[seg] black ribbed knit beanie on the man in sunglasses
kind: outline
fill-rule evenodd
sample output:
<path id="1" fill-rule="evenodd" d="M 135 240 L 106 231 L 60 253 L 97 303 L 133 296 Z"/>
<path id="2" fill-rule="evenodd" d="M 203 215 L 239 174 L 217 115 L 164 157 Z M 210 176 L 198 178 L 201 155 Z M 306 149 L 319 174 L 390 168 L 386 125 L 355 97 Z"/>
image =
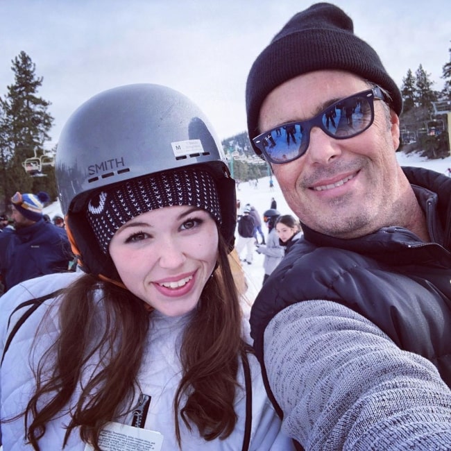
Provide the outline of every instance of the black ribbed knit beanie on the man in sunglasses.
<path id="1" fill-rule="evenodd" d="M 246 85 L 246 112 L 250 139 L 266 96 L 279 85 L 316 70 L 341 69 L 376 83 L 389 92 L 399 115 L 402 96 L 386 73 L 377 53 L 354 34 L 352 19 L 330 3 L 316 3 L 298 12 L 275 35 L 250 68 Z"/>

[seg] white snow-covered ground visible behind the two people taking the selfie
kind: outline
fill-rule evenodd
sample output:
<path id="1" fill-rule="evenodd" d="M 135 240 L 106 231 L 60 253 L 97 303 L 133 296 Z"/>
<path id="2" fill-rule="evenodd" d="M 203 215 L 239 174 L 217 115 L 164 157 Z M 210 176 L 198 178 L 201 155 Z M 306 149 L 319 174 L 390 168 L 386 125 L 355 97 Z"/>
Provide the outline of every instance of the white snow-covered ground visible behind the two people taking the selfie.
<path id="1" fill-rule="evenodd" d="M 406 155 L 405 153 L 399 152 L 396 155 L 402 166 L 425 167 L 436 172 L 444 173 L 445 175 L 448 175 L 448 168 L 451 168 L 451 156 L 443 160 L 426 160 L 425 158 L 418 157 L 414 153 Z M 269 177 L 260 178 L 257 187 L 254 187 L 249 182 L 241 182 L 237 190 L 237 198 L 241 201 L 241 206 L 250 203 L 259 212 L 260 216 L 262 216 L 264 211 L 271 207 L 271 198 L 273 197 L 277 201 L 277 208 L 280 214 L 293 214 L 282 196 L 282 192 L 275 178 L 273 178 L 273 182 L 273 189 L 269 187 Z M 61 214 L 59 203 L 56 202 L 49 205 L 44 209 L 44 213 L 49 214 L 51 218 L 55 214 Z M 267 232 L 264 223 L 262 230 Z M 244 264 L 244 271 L 248 278 L 248 292 L 246 293 L 246 297 L 250 302 L 254 300 L 262 286 L 264 275 L 263 260 L 264 255 L 255 252 L 253 263 L 251 265 Z"/>

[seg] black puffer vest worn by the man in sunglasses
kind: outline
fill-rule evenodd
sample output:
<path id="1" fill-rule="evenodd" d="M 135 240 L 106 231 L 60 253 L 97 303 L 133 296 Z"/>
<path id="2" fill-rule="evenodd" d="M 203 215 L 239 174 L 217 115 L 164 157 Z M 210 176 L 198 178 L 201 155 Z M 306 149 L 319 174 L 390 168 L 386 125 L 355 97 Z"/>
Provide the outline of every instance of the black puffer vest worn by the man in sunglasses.
<path id="1" fill-rule="evenodd" d="M 404 228 L 335 239 L 303 225 L 264 284 L 250 316 L 257 357 L 271 318 L 303 300 L 346 305 L 377 324 L 400 348 L 432 361 L 451 386 L 451 178 L 403 168 L 427 214 L 434 242 Z"/>

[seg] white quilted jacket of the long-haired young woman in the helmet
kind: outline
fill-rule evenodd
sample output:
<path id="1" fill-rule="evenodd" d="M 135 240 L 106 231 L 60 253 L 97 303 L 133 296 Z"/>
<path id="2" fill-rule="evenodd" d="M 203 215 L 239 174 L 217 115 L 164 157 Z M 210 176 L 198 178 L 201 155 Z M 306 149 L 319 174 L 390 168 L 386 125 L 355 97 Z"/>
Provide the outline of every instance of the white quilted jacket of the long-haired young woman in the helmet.
<path id="1" fill-rule="evenodd" d="M 46 275 L 42 278 L 28 280 L 11 289 L 1 298 L 0 302 L 0 343 L 3 350 L 8 334 L 17 323 L 21 312 L 12 314 L 13 309 L 30 298 L 38 298 L 46 293 L 66 287 L 79 277 L 78 273 L 64 273 Z M 99 297 L 101 292 L 99 292 Z M 1 418 L 14 416 L 24 409 L 28 397 L 33 393 L 35 380 L 31 368 L 36 365 L 42 352 L 58 336 L 58 307 L 59 299 L 46 300 L 19 328 L 12 339 L 10 348 L 6 352 L 0 370 L 1 387 Z M 99 304 L 100 305 L 100 304 Z M 51 309 L 50 307 L 53 307 Z M 46 318 L 44 330 L 38 325 L 44 314 Z M 99 321 L 103 321 L 101 307 L 98 309 Z M 153 429 L 163 434 L 164 441 L 162 451 L 178 449 L 176 444 L 173 420 L 173 398 L 180 382 L 180 337 L 189 321 L 189 314 L 179 317 L 167 317 L 158 312 L 151 314 L 151 325 L 146 338 L 146 350 L 141 369 L 137 376 L 139 389 L 142 393 L 151 395 L 151 404 L 148 409 L 144 428 Z M 248 327 L 247 327 L 248 330 Z M 31 354 L 31 345 L 38 331 L 37 348 Z M 92 357 L 88 367 L 96 369 L 98 355 Z M 252 379 L 252 427 L 250 433 L 249 450 L 292 450 L 292 442 L 280 433 L 280 420 L 266 397 L 264 385 L 257 359 L 253 355 L 248 356 Z M 83 373 L 86 382 L 87 371 Z M 238 370 L 238 382 L 245 386 L 243 368 Z M 139 389 L 136 394 L 138 403 Z M 79 389 L 77 389 L 79 391 Z M 244 437 L 244 425 L 246 418 L 246 391 L 237 388 L 235 411 L 237 412 L 237 425 L 232 434 L 224 440 L 215 439 L 204 441 L 198 434 L 196 427 L 190 432 L 183 421 L 180 421 L 180 433 L 182 436 L 182 449 L 194 450 L 241 450 Z M 119 423 L 130 425 L 133 412 L 116 418 Z M 60 418 L 51 420 L 46 426 L 46 432 L 39 444 L 41 450 L 60 450 L 65 434 L 65 427 L 69 423 L 69 414 L 62 412 Z M 5 451 L 31 450 L 31 446 L 24 443 L 24 420 L 19 418 L 12 422 L 1 424 L 3 447 Z M 65 451 L 83 451 L 85 443 L 80 439 L 75 430 L 69 437 Z"/>

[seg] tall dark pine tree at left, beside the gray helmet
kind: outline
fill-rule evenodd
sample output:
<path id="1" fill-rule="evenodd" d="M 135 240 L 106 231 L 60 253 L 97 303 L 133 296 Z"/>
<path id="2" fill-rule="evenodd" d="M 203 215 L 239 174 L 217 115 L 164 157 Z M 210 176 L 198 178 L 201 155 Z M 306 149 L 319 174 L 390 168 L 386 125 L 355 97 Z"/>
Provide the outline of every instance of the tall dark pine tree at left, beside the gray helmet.
<path id="1" fill-rule="evenodd" d="M 5 98 L 0 99 L 3 112 L 0 118 L 3 159 L 0 164 L 3 165 L 3 174 L 6 173 L 3 195 L 7 199 L 16 191 L 33 192 L 35 182 L 26 174 L 22 163 L 26 158 L 44 154 L 44 142 L 49 141 L 49 131 L 53 124 L 53 117 L 47 111 L 51 103 L 37 96 L 43 78 L 35 75 L 35 64 L 31 58 L 21 51 L 12 60 L 11 69 L 15 74 L 15 83 L 7 87 Z M 54 197 L 56 186 L 53 186 L 51 180 L 54 178 L 49 178 L 46 190 Z"/>

